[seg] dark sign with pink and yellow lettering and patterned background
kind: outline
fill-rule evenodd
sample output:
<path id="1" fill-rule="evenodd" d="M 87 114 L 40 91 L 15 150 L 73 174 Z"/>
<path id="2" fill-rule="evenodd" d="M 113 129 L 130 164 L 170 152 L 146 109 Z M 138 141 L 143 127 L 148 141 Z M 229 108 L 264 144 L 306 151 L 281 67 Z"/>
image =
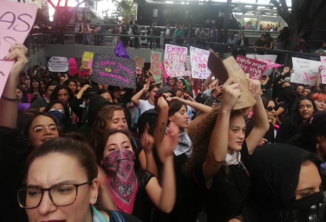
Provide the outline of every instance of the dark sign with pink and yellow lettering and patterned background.
<path id="1" fill-rule="evenodd" d="M 95 53 L 91 80 L 126 88 L 136 87 L 135 62 L 129 58 Z"/>

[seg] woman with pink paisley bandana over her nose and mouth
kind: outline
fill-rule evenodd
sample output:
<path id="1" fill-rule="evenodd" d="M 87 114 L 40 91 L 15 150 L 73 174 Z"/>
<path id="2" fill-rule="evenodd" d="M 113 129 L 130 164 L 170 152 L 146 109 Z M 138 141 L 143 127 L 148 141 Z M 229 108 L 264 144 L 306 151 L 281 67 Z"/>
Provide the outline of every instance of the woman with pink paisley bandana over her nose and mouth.
<path id="1" fill-rule="evenodd" d="M 159 146 L 163 150 L 159 155 L 163 162 L 160 185 L 150 172 L 134 168 L 135 153 L 128 132 L 110 130 L 96 150 L 97 162 L 105 172 L 99 176 L 100 183 L 107 184 L 107 188 L 102 189 L 103 198 L 111 196 L 117 209 L 133 214 L 144 222 L 150 221 L 150 214 L 146 211 L 151 208 L 146 204 L 148 197 L 157 208 L 169 213 L 176 198 L 173 148 L 178 140 L 179 129 L 171 124 L 169 133 Z M 148 134 L 148 128 L 142 136 L 142 143 L 145 149 L 153 146 L 153 137 Z"/>

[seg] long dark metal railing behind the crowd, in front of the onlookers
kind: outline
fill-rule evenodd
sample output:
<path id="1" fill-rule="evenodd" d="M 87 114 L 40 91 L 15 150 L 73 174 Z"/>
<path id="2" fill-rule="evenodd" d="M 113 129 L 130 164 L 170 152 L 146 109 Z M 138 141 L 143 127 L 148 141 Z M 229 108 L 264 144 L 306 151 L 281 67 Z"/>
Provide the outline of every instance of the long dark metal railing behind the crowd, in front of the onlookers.
<path id="1" fill-rule="evenodd" d="M 33 34 L 29 35 L 25 41 L 25 45 L 28 47 L 28 55 L 34 54 L 36 51 L 39 51 L 41 48 L 45 46 L 46 43 L 67 43 L 70 40 L 70 43 L 75 43 L 74 39 L 76 34 L 80 34 L 83 36 L 88 36 L 90 39 L 90 43 L 96 45 L 97 40 L 102 43 L 105 43 L 105 46 L 112 46 L 112 44 L 107 45 L 106 43 L 112 42 L 113 37 L 123 37 L 125 39 L 130 38 L 130 40 L 134 40 L 138 38 L 147 39 L 147 44 L 149 44 L 148 39 L 152 39 L 152 44 L 155 45 L 156 39 L 160 40 L 161 48 L 164 49 L 164 44 L 169 41 L 171 44 L 176 44 L 176 39 L 180 40 L 179 43 L 182 43 L 182 46 L 190 47 L 190 45 L 195 47 L 200 47 L 203 49 L 212 48 L 216 52 L 218 52 L 221 56 L 225 57 L 228 55 L 236 55 L 236 54 L 245 54 L 245 53 L 258 53 L 258 54 L 277 54 L 277 63 L 285 64 L 288 66 L 292 65 L 291 57 L 300 57 L 306 58 L 310 60 L 320 60 L 319 55 L 310 54 L 310 53 L 301 53 L 295 51 L 287 51 L 280 49 L 265 49 L 265 48 L 255 48 L 253 46 L 239 46 L 239 45 L 231 45 L 226 43 L 217 43 L 217 42 L 209 42 L 203 38 L 176 38 L 176 37 L 167 37 L 167 36 L 147 36 L 147 35 L 125 35 L 125 34 L 111 34 L 111 33 L 76 33 L 76 32 L 45 32 L 44 34 Z M 63 39 L 58 39 L 63 38 Z M 60 42 L 63 40 L 62 42 Z M 66 42 L 65 42 L 66 41 Z"/>

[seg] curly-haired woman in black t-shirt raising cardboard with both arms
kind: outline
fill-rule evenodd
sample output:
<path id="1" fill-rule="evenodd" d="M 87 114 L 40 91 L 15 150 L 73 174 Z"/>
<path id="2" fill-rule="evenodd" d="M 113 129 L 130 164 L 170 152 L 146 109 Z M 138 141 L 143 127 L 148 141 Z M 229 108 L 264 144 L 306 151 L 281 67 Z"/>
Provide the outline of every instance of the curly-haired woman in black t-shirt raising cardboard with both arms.
<path id="1" fill-rule="evenodd" d="M 230 77 L 223 84 L 222 104 L 214 109 L 192 132 L 194 150 L 187 167 L 194 170 L 196 181 L 205 199 L 207 221 L 226 221 L 239 215 L 248 192 L 249 155 L 260 143 L 269 128 L 261 100 L 260 82 L 248 80 L 254 94 L 254 127 L 245 139 L 245 120 L 241 110 L 232 110 L 241 89 Z M 213 128 L 213 129 L 212 129 Z M 207 136 L 211 135 L 209 139 Z"/>

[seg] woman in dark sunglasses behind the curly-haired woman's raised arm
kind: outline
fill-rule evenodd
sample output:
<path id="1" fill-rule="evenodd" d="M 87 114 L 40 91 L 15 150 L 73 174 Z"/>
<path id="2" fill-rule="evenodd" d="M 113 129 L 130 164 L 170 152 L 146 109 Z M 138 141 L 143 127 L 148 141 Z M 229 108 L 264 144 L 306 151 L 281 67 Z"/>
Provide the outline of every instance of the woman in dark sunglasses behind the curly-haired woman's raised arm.
<path id="1" fill-rule="evenodd" d="M 274 99 L 266 96 L 261 96 L 261 100 L 263 102 L 263 105 L 265 107 L 266 115 L 269 122 L 269 129 L 263 136 L 260 145 L 263 145 L 265 143 L 273 143 L 275 142 L 275 134 L 274 134 L 274 124 L 276 123 L 276 105 Z M 254 116 L 255 118 L 255 113 Z M 250 119 L 248 123 L 246 124 L 246 137 L 251 132 L 252 128 L 254 127 L 254 120 Z"/>

